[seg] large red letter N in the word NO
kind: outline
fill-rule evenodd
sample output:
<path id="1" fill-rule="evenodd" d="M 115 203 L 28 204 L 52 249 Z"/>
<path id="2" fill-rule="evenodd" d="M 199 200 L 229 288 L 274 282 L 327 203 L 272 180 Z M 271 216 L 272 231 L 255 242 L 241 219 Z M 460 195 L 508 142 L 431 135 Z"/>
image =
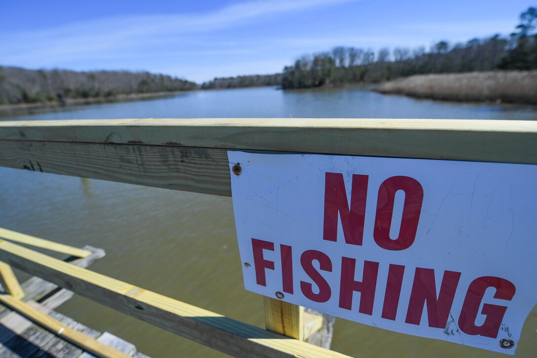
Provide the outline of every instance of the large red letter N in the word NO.
<path id="1" fill-rule="evenodd" d="M 345 242 L 351 245 L 362 245 L 366 212 L 367 180 L 367 175 L 352 175 L 351 206 L 349 207 L 343 174 L 325 174 L 324 240 L 337 240 L 339 214 Z"/>

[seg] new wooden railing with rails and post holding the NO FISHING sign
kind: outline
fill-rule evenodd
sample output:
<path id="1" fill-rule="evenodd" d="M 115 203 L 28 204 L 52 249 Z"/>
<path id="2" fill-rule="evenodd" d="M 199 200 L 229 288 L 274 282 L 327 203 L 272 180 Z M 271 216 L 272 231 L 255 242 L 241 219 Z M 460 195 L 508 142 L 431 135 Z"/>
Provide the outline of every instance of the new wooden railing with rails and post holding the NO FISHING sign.
<path id="1" fill-rule="evenodd" d="M 535 143 L 535 121 L 5 121 L 0 122 L 0 166 L 230 196 L 228 150 L 537 164 Z M 13 237 L 12 232 L 0 231 L 0 237 L 10 239 L 9 235 Z M 18 237 L 20 243 L 43 247 L 40 241 Z M 61 246 L 54 249 L 64 252 Z M 322 321 L 276 299 L 265 298 L 268 330 L 263 330 L 8 241 L 0 242 L 0 260 L 10 300 L 24 295 L 17 290 L 13 266 L 231 355 L 342 356 L 302 341 Z"/>

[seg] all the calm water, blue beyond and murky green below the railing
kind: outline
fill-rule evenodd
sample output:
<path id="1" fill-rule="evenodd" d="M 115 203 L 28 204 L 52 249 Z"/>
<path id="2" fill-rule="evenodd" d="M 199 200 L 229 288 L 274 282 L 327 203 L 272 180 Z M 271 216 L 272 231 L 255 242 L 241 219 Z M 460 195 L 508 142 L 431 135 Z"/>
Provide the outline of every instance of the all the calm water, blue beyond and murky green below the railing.
<path id="1" fill-rule="evenodd" d="M 537 120 L 535 108 L 442 103 L 366 88 L 200 91 L 151 101 L 33 110 L 0 120 L 202 117 L 456 118 Z M 230 198 L 0 168 L 0 226 L 106 257 L 91 269 L 263 326 L 263 300 L 245 291 Z M 221 356 L 212 349 L 75 296 L 59 309 L 155 357 Z M 537 354 L 537 311 L 517 356 Z M 502 357 L 453 343 L 336 321 L 332 348 L 352 356 Z"/>

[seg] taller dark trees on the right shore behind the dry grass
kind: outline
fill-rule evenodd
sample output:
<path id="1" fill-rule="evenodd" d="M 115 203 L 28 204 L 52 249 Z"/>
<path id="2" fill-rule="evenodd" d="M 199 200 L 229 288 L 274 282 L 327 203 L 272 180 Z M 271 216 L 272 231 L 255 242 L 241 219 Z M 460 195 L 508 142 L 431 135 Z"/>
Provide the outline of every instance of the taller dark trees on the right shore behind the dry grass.
<path id="1" fill-rule="evenodd" d="M 286 66 L 281 85 L 284 89 L 310 88 L 347 83 L 375 83 L 397 77 L 429 73 L 462 73 L 496 69 L 537 68 L 537 9 L 520 15 L 517 32 L 466 44 L 440 41 L 429 51 L 425 47 L 398 47 L 390 51 L 338 46 L 330 52 L 304 55 L 293 66 Z"/>

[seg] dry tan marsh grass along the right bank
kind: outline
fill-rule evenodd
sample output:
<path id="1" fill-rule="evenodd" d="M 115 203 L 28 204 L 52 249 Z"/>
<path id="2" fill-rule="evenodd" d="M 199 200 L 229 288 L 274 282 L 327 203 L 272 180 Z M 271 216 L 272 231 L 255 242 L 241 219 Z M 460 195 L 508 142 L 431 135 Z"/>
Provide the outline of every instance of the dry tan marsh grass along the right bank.
<path id="1" fill-rule="evenodd" d="M 537 104 L 537 70 L 415 75 L 383 83 L 375 90 L 449 101 Z"/>

